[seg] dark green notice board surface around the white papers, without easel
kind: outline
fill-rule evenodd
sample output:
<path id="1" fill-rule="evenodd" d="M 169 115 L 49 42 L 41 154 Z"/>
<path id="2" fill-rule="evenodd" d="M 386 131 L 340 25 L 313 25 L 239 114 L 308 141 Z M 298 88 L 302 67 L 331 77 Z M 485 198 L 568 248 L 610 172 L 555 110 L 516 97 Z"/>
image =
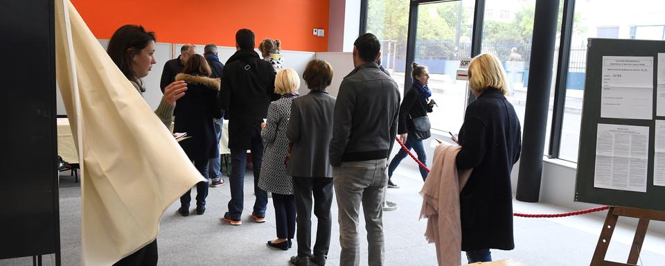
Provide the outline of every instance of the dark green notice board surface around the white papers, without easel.
<path id="1" fill-rule="evenodd" d="M 589 39 L 584 108 L 575 184 L 575 201 L 665 211 L 665 186 L 653 185 L 658 53 L 665 42 L 635 39 Z M 603 56 L 653 57 L 653 119 L 601 118 Z M 649 127 L 646 193 L 594 187 L 598 123 Z"/>

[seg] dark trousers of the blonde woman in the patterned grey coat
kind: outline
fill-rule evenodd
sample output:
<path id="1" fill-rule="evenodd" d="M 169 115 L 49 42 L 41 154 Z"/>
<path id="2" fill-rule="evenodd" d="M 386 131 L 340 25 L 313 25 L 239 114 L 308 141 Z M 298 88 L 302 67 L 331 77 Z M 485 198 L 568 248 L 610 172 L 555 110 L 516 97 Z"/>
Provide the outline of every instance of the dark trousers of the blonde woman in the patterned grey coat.
<path id="1" fill-rule="evenodd" d="M 296 234 L 296 202 L 293 195 L 272 193 L 275 206 L 275 225 L 277 238 L 292 239 Z"/>

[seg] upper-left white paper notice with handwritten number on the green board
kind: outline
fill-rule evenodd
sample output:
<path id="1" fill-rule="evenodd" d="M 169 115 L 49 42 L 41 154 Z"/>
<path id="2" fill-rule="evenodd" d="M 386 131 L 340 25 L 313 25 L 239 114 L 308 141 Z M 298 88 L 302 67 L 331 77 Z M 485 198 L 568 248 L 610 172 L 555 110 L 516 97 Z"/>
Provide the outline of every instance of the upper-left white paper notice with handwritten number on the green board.
<path id="1" fill-rule="evenodd" d="M 603 56 L 601 117 L 653 119 L 653 57 Z"/>

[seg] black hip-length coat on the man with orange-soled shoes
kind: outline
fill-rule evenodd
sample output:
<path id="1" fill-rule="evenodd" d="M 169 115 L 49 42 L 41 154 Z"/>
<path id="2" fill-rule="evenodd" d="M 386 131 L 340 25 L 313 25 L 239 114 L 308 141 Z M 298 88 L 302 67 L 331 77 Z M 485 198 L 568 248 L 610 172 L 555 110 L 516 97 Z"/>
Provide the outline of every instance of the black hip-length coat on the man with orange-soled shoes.
<path id="1" fill-rule="evenodd" d="M 236 51 L 222 70 L 220 105 L 229 118 L 229 149 L 249 149 L 274 94 L 275 71 L 254 49 Z"/>

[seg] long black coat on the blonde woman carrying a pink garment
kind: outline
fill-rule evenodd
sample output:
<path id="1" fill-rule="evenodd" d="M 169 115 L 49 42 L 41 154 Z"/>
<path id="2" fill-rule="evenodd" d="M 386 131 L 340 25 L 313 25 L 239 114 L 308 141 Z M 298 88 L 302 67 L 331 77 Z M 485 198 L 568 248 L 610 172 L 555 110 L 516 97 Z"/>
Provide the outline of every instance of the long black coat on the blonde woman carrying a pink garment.
<path id="1" fill-rule="evenodd" d="M 462 250 L 515 248 L 511 171 L 520 158 L 522 128 L 515 109 L 489 87 L 466 107 L 456 165 L 473 168 L 460 193 Z"/>

